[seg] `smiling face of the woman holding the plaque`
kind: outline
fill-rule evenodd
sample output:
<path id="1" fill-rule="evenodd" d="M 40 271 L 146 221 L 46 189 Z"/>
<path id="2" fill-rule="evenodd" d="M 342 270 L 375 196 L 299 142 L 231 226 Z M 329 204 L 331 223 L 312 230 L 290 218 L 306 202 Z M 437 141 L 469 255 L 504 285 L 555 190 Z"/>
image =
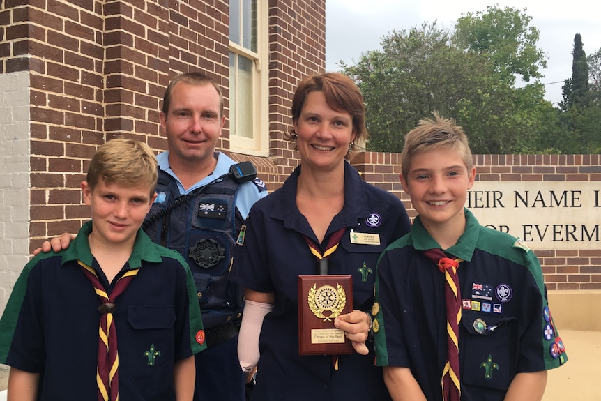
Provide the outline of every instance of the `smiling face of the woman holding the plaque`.
<path id="1" fill-rule="evenodd" d="M 307 95 L 300 116 L 294 121 L 294 132 L 300 162 L 312 169 L 343 165 L 355 137 L 351 114 L 332 109 L 321 91 Z"/>

